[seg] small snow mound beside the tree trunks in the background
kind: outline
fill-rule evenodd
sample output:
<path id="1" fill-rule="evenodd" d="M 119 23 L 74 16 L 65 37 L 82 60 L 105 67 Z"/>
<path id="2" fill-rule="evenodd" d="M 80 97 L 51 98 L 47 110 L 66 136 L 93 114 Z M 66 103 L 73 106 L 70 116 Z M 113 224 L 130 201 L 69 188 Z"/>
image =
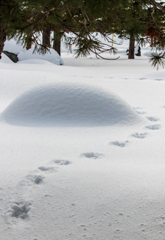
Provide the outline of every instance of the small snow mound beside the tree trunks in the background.
<path id="1" fill-rule="evenodd" d="M 29 59 L 42 59 L 57 65 L 64 64 L 62 58 L 54 49 L 49 49 L 49 52 L 47 52 L 46 54 L 39 54 L 37 52 L 34 52 L 34 48 L 30 48 L 25 52 L 19 53 L 18 59 L 19 61 L 24 61 Z"/>

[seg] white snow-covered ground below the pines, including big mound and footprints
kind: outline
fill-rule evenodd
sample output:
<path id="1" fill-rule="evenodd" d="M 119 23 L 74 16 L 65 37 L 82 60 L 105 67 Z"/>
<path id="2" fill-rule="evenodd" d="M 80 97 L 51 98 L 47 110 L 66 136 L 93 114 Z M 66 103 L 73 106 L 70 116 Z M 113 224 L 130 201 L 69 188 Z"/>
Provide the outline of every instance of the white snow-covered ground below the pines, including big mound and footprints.
<path id="1" fill-rule="evenodd" d="M 165 70 L 127 45 L 117 61 L 3 55 L 1 240 L 165 239 Z"/>

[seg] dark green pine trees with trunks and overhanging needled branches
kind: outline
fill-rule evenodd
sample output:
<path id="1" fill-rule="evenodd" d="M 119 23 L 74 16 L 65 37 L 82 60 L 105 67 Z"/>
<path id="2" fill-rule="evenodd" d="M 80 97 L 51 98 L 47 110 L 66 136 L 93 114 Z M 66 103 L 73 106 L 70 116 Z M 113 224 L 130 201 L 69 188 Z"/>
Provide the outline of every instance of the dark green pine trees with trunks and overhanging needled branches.
<path id="1" fill-rule="evenodd" d="M 129 58 L 134 58 L 134 43 L 149 43 L 156 49 L 153 66 L 164 65 L 164 3 L 156 0 L 0 0 L 0 56 L 6 38 L 16 37 L 24 47 L 45 53 L 50 47 L 60 53 L 60 39 L 66 46 L 76 45 L 76 56 L 90 52 L 103 58 L 102 53 L 115 53 L 111 34 L 130 39 Z M 39 34 L 43 33 L 42 42 Z M 67 37 L 65 33 L 73 33 Z M 102 43 L 93 33 L 100 33 Z M 118 43 L 116 43 L 118 44 Z"/>

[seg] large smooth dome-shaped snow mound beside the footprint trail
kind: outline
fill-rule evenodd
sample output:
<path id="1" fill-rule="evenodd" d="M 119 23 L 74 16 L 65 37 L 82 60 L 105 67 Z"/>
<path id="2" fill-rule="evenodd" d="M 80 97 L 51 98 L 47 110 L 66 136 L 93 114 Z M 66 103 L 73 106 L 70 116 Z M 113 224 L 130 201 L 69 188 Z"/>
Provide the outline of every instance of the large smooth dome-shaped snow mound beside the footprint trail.
<path id="1" fill-rule="evenodd" d="M 2 113 L 19 126 L 108 126 L 136 124 L 141 117 L 124 100 L 99 88 L 62 84 L 33 89 Z"/>

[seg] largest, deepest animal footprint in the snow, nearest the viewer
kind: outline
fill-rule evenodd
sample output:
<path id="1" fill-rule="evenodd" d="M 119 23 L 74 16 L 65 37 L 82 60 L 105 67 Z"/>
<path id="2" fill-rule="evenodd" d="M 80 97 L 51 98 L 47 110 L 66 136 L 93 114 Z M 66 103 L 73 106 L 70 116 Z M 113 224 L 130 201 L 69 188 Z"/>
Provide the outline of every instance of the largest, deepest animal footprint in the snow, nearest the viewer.
<path id="1" fill-rule="evenodd" d="M 11 216 L 15 218 L 22 218 L 26 219 L 28 218 L 28 212 L 30 211 L 30 205 L 29 202 L 14 202 L 11 206 Z"/>

